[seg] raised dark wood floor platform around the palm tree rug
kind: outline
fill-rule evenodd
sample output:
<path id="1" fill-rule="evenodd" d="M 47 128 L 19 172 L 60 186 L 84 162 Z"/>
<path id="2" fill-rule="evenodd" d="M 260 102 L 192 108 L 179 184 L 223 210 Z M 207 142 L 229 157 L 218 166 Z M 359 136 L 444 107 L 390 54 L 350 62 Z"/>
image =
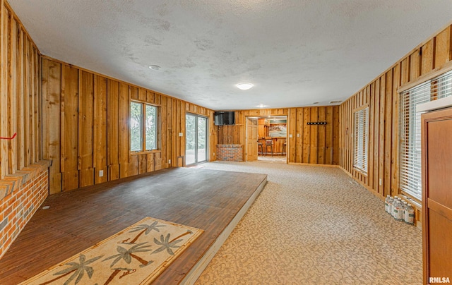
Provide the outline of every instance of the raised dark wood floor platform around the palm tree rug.
<path id="1" fill-rule="evenodd" d="M 265 186 L 264 174 L 164 169 L 51 195 L 0 260 L 0 284 L 18 284 L 143 217 L 205 232 L 153 284 L 191 284 Z"/>

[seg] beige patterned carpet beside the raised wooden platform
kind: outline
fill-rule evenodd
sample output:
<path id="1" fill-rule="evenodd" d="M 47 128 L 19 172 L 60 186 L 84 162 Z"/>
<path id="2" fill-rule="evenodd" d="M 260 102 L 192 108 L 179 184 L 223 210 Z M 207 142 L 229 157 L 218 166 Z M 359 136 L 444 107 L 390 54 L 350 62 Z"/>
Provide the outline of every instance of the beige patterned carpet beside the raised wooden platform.
<path id="1" fill-rule="evenodd" d="M 338 168 L 213 162 L 268 184 L 196 284 L 422 284 L 420 229 Z"/>

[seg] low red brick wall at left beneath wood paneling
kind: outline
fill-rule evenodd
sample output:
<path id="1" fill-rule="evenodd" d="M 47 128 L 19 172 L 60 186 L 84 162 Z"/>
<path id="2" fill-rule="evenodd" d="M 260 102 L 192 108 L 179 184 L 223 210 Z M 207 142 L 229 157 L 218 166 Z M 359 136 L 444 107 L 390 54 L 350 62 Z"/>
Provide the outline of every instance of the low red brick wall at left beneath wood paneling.
<path id="1" fill-rule="evenodd" d="M 8 188 L 0 189 L 1 258 L 49 195 L 48 165 L 33 164 L 0 182 L 0 186 L 9 183 Z"/>

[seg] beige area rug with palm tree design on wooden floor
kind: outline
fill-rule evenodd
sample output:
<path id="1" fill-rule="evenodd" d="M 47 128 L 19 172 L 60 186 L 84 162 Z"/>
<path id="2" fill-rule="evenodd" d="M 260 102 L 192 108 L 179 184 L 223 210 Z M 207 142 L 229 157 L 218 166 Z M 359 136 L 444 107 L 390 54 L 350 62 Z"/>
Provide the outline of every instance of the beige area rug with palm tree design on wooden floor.
<path id="1" fill-rule="evenodd" d="M 202 233 L 146 217 L 21 284 L 149 284 Z"/>

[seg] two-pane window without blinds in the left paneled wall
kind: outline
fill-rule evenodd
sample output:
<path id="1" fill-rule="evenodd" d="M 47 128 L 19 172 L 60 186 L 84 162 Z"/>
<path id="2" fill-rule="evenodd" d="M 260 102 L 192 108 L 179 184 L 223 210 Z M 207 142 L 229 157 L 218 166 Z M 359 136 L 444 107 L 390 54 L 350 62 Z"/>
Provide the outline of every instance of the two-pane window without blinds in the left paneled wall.
<path id="1" fill-rule="evenodd" d="M 157 107 L 130 103 L 130 150 L 157 150 Z"/>

